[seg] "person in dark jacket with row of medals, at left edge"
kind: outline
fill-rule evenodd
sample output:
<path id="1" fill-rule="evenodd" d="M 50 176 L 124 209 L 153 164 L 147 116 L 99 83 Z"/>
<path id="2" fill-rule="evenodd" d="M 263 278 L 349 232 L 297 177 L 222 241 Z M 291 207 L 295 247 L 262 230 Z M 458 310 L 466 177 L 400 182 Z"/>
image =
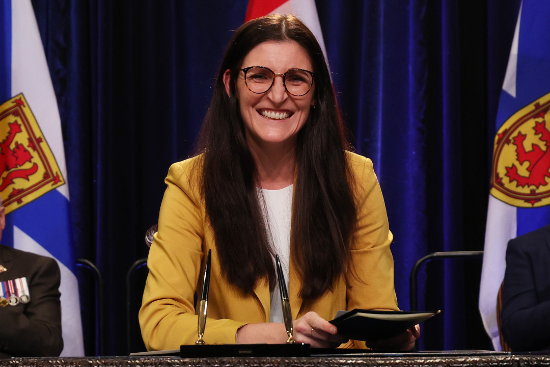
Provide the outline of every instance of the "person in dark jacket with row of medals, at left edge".
<path id="1" fill-rule="evenodd" d="M 56 260 L 0 245 L 0 358 L 61 354 L 60 281 Z"/>

